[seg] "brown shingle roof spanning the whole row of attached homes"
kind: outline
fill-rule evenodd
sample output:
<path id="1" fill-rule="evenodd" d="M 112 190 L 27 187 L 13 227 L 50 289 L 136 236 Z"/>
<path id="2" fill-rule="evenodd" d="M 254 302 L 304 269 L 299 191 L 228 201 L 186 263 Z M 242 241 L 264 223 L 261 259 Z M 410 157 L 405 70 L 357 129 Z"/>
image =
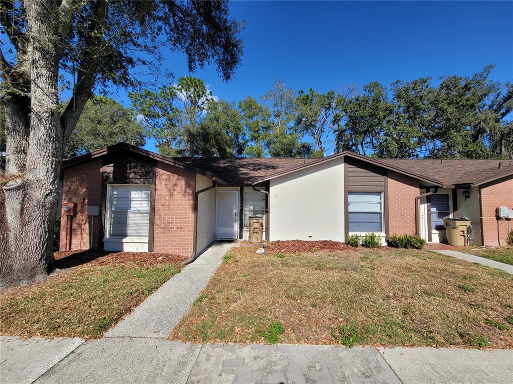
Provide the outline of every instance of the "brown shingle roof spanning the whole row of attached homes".
<path id="1" fill-rule="evenodd" d="M 72 167 L 94 158 L 119 151 L 131 151 L 175 166 L 195 170 L 207 177 L 216 177 L 221 183 L 249 185 L 295 172 L 305 166 L 330 161 L 341 156 L 351 156 L 406 174 L 424 181 L 425 185 L 472 184 L 480 185 L 488 181 L 513 175 L 513 159 L 372 159 L 349 151 L 334 154 L 323 159 L 304 158 L 197 158 L 166 157 L 126 143 L 111 145 L 90 154 L 66 159 L 63 168 Z M 502 168 L 499 168 L 499 163 Z"/>

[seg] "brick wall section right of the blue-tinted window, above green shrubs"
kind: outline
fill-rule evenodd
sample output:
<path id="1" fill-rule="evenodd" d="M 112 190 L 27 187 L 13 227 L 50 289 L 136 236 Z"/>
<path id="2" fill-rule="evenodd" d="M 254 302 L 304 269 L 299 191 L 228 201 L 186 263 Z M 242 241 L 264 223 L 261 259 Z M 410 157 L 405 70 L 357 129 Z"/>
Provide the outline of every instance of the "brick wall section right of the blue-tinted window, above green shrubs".
<path id="1" fill-rule="evenodd" d="M 415 234 L 415 197 L 419 180 L 388 172 L 388 233 Z"/>

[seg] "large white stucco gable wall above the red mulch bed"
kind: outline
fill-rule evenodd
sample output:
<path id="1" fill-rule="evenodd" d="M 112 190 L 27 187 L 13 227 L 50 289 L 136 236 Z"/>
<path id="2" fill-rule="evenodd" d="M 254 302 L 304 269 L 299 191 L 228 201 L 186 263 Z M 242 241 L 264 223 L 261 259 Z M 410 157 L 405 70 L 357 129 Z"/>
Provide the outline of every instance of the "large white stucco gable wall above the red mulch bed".
<path id="1" fill-rule="evenodd" d="M 343 242 L 343 159 L 271 179 L 269 229 L 271 241 Z"/>

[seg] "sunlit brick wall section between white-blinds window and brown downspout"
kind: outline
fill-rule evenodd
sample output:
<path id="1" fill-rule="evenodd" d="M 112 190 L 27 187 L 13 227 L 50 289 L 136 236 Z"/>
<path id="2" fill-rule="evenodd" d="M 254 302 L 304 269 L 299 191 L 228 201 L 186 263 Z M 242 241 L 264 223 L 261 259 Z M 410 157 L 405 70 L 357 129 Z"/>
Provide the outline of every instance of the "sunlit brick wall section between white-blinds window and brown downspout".
<path id="1" fill-rule="evenodd" d="M 195 189 L 194 171 L 157 162 L 154 252 L 191 255 Z"/>

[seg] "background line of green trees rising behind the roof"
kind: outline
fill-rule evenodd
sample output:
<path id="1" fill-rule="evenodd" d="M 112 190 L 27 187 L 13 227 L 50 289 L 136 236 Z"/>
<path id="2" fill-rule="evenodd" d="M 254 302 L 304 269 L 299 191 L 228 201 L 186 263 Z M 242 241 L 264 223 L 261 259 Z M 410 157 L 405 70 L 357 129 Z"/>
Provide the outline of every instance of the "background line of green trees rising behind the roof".
<path id="1" fill-rule="evenodd" d="M 282 80 L 258 98 L 217 100 L 204 82 L 180 78 L 130 93 L 132 108 L 95 97 L 68 146 L 82 154 L 117 141 L 155 140 L 167 156 L 322 157 L 350 150 L 388 158 L 513 156 L 513 86 L 473 76 L 430 77 L 390 87 L 374 81 L 357 94 L 294 92 Z"/>

